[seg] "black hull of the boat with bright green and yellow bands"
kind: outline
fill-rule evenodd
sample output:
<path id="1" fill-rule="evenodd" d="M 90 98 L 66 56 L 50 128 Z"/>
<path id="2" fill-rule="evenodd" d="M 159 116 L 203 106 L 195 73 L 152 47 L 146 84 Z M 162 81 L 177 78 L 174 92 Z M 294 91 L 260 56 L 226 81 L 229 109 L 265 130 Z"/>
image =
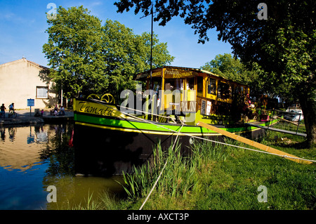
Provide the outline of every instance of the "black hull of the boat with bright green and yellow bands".
<path id="1" fill-rule="evenodd" d="M 177 135 L 183 154 L 190 154 L 192 143 L 200 138 L 223 140 L 219 133 L 201 126 L 159 123 L 136 119 L 134 115 L 119 117 L 108 114 L 110 110 L 95 110 L 91 103 L 81 105 L 90 106 L 89 109 L 74 107 L 75 165 L 76 172 L 83 175 L 129 173 L 133 166 L 144 164 L 151 157 L 157 143 L 166 149 Z M 259 125 L 266 126 L 268 122 Z M 263 129 L 247 125 L 217 127 L 246 138 L 257 138 L 264 133 Z"/>

